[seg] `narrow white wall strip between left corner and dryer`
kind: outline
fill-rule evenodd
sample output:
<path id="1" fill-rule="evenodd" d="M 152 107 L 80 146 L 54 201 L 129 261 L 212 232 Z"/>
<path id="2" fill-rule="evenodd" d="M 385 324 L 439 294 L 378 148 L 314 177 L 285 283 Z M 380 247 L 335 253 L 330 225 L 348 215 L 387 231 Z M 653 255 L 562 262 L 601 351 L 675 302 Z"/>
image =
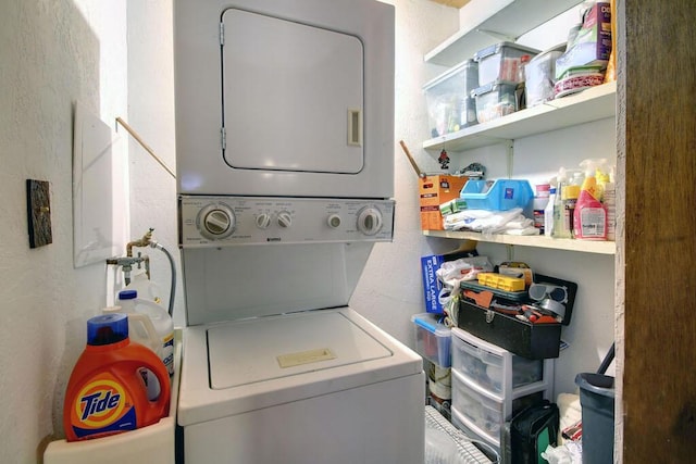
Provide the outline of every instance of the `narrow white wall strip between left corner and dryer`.
<path id="1" fill-rule="evenodd" d="M 172 0 L 129 0 L 127 5 L 128 124 L 175 171 Z M 177 277 L 174 323 L 181 327 L 185 319 L 176 235 L 176 180 L 133 138 L 128 153 L 130 238 L 138 239 L 153 228 L 154 239 L 174 259 Z M 163 293 L 163 305 L 169 308 L 171 272 L 166 255 L 152 248 L 137 251 L 150 256 L 151 279 Z"/>

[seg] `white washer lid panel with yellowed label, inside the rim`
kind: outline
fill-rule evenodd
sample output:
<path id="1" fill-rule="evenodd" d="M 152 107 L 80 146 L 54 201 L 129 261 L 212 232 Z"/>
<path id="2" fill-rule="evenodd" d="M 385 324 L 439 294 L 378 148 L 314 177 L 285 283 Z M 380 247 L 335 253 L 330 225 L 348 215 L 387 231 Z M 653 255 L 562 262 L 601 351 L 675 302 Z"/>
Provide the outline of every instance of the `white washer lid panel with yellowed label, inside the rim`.
<path id="1" fill-rule="evenodd" d="M 393 355 L 340 312 L 238 321 L 212 326 L 207 336 L 213 390 Z"/>

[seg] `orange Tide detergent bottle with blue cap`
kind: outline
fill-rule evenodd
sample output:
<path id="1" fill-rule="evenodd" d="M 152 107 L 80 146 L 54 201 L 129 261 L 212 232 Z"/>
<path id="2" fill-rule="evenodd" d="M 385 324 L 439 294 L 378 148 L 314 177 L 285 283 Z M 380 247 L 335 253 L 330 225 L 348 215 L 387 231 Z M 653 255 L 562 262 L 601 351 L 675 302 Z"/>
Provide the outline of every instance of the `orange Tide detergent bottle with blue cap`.
<path id="1" fill-rule="evenodd" d="M 160 396 L 148 400 L 141 371 L 154 373 Z M 128 338 L 128 316 L 105 314 L 87 321 L 87 346 L 67 383 L 63 427 L 67 441 L 120 434 L 166 416 L 170 376 L 159 356 Z"/>

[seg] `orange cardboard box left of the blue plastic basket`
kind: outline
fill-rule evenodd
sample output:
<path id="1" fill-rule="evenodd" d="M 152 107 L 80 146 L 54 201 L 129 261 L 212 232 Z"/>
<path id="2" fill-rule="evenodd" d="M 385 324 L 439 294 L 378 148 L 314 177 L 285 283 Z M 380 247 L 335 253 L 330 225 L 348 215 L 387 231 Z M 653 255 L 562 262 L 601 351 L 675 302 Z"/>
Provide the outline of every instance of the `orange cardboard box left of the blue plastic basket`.
<path id="1" fill-rule="evenodd" d="M 443 230 L 443 215 L 439 205 L 459 198 L 469 177 L 447 174 L 426 175 L 419 179 L 421 198 L 421 229 Z"/>

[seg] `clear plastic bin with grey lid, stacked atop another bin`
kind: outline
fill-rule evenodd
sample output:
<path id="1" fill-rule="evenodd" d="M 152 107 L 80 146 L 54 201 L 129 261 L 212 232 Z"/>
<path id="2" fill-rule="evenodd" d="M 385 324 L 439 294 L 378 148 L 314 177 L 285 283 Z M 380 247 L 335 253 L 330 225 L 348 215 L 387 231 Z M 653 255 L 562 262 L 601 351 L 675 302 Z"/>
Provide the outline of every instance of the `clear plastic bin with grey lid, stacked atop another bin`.
<path id="1" fill-rule="evenodd" d="M 474 61 L 478 63 L 478 84 L 483 86 L 494 80 L 519 83 L 522 57 L 532 59 L 538 53 L 539 50 L 513 42 L 500 42 L 477 51 Z"/>

